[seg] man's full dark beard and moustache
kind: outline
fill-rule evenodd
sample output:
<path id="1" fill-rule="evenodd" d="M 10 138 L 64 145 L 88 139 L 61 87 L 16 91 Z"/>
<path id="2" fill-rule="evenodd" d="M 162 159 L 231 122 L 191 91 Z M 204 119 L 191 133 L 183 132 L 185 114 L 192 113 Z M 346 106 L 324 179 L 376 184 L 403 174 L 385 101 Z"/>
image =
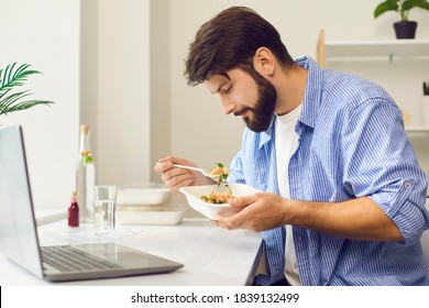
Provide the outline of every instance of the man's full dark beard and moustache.
<path id="1" fill-rule="evenodd" d="M 270 128 L 273 119 L 274 110 L 277 101 L 277 91 L 272 82 L 266 80 L 254 68 L 248 70 L 257 86 L 257 101 L 255 107 L 245 108 L 241 112 L 234 113 L 240 116 L 250 110 L 253 113 L 253 119 L 244 117 L 243 120 L 251 131 L 256 133 L 266 131 Z"/>

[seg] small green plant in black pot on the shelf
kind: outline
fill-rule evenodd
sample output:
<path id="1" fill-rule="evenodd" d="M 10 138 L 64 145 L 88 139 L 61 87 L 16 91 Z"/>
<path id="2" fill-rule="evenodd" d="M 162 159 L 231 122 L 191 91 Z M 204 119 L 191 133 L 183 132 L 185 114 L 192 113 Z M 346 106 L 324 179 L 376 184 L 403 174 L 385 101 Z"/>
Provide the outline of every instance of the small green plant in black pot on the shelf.
<path id="1" fill-rule="evenodd" d="M 400 21 L 394 23 L 396 38 L 414 38 L 416 36 L 417 22 L 408 20 L 409 11 L 420 8 L 429 11 L 428 0 L 386 0 L 374 10 L 374 18 L 395 11 L 400 15 Z"/>

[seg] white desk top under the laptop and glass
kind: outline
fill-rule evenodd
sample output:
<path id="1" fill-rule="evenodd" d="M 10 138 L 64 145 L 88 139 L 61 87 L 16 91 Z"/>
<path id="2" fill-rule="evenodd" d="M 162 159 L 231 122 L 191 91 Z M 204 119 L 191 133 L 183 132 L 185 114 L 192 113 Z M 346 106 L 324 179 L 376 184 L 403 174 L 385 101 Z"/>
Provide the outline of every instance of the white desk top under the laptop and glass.
<path id="1" fill-rule="evenodd" d="M 260 257 L 260 235 L 245 230 L 224 230 L 207 219 L 185 219 L 177 226 L 119 226 L 133 228 L 135 235 L 119 237 L 116 241 L 144 252 L 183 263 L 176 272 L 113 279 L 55 283 L 55 285 L 124 285 L 124 286 L 239 286 L 252 283 Z M 38 227 L 42 245 L 63 244 L 50 232 L 67 230 L 61 220 Z M 75 242 L 75 240 L 74 240 Z M 0 254 L 1 286 L 53 285 L 38 278 Z"/>

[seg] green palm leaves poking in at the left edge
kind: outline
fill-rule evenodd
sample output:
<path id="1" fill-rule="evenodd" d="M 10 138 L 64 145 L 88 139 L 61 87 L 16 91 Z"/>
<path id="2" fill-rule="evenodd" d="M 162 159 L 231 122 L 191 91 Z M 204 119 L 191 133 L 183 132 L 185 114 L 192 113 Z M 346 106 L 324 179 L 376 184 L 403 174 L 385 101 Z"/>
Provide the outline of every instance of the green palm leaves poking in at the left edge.
<path id="1" fill-rule="evenodd" d="M 16 67 L 16 63 L 13 63 L 4 69 L 0 69 L 0 116 L 25 110 L 37 105 L 54 103 L 50 100 L 26 100 L 32 95 L 30 90 L 16 90 L 16 87 L 25 84 L 29 76 L 42 74 L 29 67 L 30 64 L 22 64 Z"/>

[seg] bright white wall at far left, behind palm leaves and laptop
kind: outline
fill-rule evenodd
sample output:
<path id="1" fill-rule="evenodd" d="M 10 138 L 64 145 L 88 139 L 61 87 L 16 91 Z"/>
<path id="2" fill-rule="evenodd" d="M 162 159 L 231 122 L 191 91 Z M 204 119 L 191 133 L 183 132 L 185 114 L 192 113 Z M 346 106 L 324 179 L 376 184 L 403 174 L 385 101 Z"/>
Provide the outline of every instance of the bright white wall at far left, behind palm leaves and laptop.
<path id="1" fill-rule="evenodd" d="M 32 99 L 55 101 L 0 117 L 22 124 L 37 207 L 64 207 L 74 189 L 79 114 L 79 10 L 75 0 L 0 0 L 0 67 L 31 64 Z M 1 172 L 1 170 L 0 170 Z"/>

